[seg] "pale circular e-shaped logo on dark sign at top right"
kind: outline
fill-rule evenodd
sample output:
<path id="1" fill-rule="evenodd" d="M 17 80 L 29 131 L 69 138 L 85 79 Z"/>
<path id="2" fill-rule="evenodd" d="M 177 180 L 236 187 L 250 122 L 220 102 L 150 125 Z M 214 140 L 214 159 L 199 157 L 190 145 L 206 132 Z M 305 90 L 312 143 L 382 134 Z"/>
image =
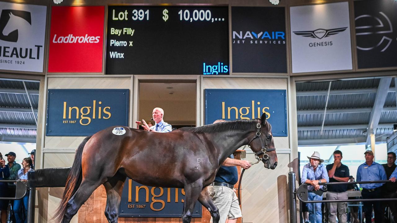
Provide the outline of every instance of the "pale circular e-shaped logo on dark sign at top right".
<path id="1" fill-rule="evenodd" d="M 356 36 L 365 36 L 365 35 L 378 35 L 378 40 L 370 46 L 358 46 L 359 50 L 372 50 L 374 48 L 378 48 L 380 52 L 384 52 L 390 46 L 392 38 L 387 37 L 386 34 L 393 33 L 393 26 L 391 25 L 390 19 L 383 12 L 379 12 L 378 16 L 373 15 L 360 15 L 355 18 L 357 23 L 365 23 L 368 25 L 357 26 L 356 25 Z M 382 22 L 383 21 L 383 22 Z M 367 42 L 367 41 L 366 41 Z M 382 46 L 381 46 L 382 45 Z"/>

